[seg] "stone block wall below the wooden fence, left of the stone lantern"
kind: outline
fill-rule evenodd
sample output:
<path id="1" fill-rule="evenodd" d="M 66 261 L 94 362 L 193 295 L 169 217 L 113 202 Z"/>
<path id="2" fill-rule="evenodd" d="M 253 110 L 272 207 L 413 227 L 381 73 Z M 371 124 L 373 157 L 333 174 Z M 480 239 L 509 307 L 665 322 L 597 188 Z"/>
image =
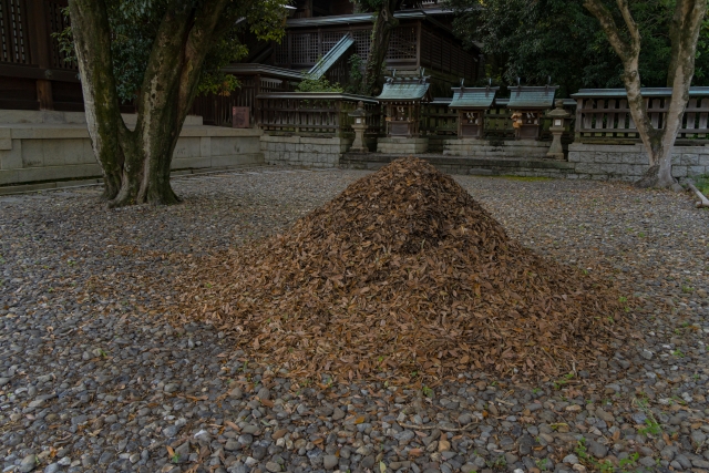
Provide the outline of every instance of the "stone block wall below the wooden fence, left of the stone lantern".
<path id="1" fill-rule="evenodd" d="M 350 138 L 310 136 L 261 136 L 261 152 L 266 164 L 337 167 L 352 145 Z"/>

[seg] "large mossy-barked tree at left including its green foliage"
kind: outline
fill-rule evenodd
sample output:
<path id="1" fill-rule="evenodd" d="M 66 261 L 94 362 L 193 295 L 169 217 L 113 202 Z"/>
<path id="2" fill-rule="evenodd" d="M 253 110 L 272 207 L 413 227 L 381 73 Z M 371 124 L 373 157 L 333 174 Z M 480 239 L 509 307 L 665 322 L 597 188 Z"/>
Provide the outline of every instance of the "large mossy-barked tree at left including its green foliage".
<path id="1" fill-rule="evenodd" d="M 86 124 L 109 206 L 174 204 L 173 152 L 199 91 L 228 93 L 219 73 L 247 50 L 240 29 L 280 40 L 287 0 L 70 0 Z M 134 128 L 120 105 L 133 102 Z"/>

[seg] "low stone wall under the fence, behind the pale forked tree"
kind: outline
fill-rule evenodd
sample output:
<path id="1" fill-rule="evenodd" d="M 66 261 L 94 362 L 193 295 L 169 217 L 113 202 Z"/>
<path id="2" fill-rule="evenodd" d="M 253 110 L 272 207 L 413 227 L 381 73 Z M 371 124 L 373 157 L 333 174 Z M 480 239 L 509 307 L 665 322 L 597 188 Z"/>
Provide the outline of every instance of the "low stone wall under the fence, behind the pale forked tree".
<path id="1" fill-rule="evenodd" d="M 648 168 L 643 144 L 599 145 L 571 144 L 568 162 L 574 165 L 575 178 L 637 181 Z M 672 175 L 680 181 L 709 173 L 709 145 L 675 146 Z"/>

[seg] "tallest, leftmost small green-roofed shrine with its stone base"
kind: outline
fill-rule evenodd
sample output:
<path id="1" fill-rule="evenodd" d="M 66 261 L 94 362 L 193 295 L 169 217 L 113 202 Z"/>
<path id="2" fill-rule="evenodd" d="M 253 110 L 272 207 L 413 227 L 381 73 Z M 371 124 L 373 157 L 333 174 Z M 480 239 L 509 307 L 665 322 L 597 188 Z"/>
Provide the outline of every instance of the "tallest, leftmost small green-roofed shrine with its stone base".
<path id="1" fill-rule="evenodd" d="M 424 153 L 428 138 L 419 137 L 421 103 L 430 102 L 429 76 L 397 76 L 394 70 L 387 78 L 381 94 L 376 97 L 384 105 L 387 137 L 378 142 L 381 153 Z"/>

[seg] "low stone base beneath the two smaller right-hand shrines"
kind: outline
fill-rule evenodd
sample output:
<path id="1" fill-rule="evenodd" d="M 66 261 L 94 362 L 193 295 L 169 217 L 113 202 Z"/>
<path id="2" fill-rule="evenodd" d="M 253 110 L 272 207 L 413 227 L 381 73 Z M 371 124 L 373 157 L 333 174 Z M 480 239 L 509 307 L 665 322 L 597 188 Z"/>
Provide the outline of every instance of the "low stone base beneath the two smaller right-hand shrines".
<path id="1" fill-rule="evenodd" d="M 526 158 L 546 160 L 552 143 L 534 140 L 508 140 L 494 142 L 476 138 L 452 138 L 443 141 L 446 156 L 469 156 L 475 158 Z"/>

